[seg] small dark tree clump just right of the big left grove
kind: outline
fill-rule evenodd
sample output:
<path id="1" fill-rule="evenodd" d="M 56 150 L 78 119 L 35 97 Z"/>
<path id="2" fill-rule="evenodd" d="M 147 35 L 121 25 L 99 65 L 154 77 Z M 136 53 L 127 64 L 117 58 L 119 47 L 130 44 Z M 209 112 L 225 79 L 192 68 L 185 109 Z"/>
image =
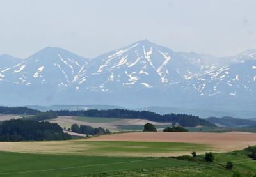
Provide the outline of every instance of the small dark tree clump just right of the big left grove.
<path id="1" fill-rule="evenodd" d="M 88 125 L 77 125 L 77 124 L 72 124 L 71 126 L 71 131 L 72 132 L 76 132 L 79 134 L 86 134 L 86 135 L 103 135 L 103 134 L 110 134 L 111 132 L 109 132 L 108 129 L 104 129 L 104 128 L 93 128 L 91 126 Z"/>

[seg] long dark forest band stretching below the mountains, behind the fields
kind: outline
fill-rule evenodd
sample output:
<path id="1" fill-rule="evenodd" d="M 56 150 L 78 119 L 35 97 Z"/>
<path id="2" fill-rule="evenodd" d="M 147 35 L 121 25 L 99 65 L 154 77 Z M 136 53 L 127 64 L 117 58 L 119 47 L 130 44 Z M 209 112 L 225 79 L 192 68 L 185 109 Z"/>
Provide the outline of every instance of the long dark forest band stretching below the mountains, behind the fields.
<path id="1" fill-rule="evenodd" d="M 188 114 L 156 114 L 150 111 L 133 111 L 127 109 L 108 109 L 108 110 L 59 110 L 47 111 L 44 114 L 41 111 L 29 109 L 25 107 L 0 107 L 0 114 L 33 114 L 33 118 L 38 121 L 52 119 L 56 116 L 88 116 L 88 117 L 106 117 L 106 118 L 128 118 L 128 119 L 148 119 L 156 122 L 170 122 L 173 125 L 179 123 L 184 127 L 195 127 L 197 125 L 204 125 L 215 127 L 213 123 L 200 119 L 198 116 Z M 28 118 L 30 119 L 30 118 Z"/>

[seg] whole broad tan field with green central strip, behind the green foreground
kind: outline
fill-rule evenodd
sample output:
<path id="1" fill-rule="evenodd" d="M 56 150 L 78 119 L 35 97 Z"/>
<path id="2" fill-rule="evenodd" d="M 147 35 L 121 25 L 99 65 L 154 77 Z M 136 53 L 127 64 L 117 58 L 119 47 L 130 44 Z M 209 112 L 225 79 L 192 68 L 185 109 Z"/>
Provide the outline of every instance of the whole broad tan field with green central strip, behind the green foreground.
<path id="1" fill-rule="evenodd" d="M 70 141 L 0 142 L 0 151 L 161 157 L 241 150 L 255 144 L 256 134 L 244 132 L 131 132 Z"/>

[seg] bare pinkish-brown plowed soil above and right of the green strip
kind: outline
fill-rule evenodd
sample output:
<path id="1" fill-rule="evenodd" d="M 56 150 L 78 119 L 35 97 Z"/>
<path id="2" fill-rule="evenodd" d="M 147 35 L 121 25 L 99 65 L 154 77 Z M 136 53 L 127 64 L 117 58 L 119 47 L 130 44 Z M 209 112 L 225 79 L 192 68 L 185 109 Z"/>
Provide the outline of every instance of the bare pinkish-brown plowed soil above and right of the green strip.
<path id="1" fill-rule="evenodd" d="M 246 132 L 131 132 L 102 135 L 86 141 L 142 141 L 142 142 L 188 142 L 208 144 L 216 151 L 241 150 L 256 145 L 256 134 Z"/>

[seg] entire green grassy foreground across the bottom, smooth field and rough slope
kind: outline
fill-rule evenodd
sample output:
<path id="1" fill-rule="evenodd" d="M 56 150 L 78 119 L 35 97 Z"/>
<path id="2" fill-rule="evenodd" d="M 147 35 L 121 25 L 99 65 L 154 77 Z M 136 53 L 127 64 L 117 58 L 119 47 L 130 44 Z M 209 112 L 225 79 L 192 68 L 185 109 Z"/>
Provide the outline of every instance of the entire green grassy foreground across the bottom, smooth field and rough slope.
<path id="1" fill-rule="evenodd" d="M 204 155 L 183 158 L 100 157 L 0 153 L 0 176 L 240 176 L 254 177 L 256 160 L 248 151 L 215 154 L 214 162 Z M 181 158 L 180 158 L 181 159 Z M 232 170 L 225 169 L 232 162 Z"/>

